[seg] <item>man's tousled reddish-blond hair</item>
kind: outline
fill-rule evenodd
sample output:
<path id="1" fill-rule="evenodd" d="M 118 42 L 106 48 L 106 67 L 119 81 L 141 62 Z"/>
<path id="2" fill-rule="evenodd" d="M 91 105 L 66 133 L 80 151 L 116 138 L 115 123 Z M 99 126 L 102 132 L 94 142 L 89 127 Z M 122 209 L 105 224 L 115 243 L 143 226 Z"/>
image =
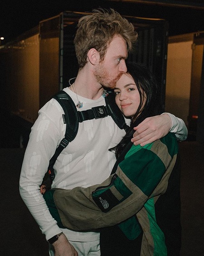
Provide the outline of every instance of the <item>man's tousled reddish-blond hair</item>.
<path id="1" fill-rule="evenodd" d="M 127 44 L 128 51 L 136 42 L 137 33 L 134 26 L 113 10 L 95 9 L 79 19 L 74 38 L 75 51 L 80 68 L 87 63 L 87 52 L 95 48 L 103 60 L 107 47 L 115 36 L 121 36 Z"/>

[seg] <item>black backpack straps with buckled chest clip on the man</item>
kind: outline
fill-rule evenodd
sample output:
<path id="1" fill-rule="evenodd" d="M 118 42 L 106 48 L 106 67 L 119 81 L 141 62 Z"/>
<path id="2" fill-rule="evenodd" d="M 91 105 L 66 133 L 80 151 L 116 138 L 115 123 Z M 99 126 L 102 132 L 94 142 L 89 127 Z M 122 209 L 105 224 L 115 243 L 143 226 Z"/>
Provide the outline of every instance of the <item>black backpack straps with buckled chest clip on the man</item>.
<path id="1" fill-rule="evenodd" d="M 125 129 L 125 131 L 127 131 L 129 128 L 125 122 L 123 114 L 117 107 L 115 95 L 112 91 L 109 91 L 107 97 L 105 97 L 106 106 L 98 106 L 84 111 L 78 111 L 72 98 L 64 91 L 58 92 L 53 98 L 57 100 L 63 108 L 63 122 L 66 123 L 66 131 L 64 138 L 59 143 L 58 148 L 49 161 L 48 171 L 42 182 L 42 184 L 46 186 L 46 190 L 51 188 L 52 181 L 55 177 L 53 165 L 58 158 L 58 155 L 67 147 L 68 143 L 73 141 L 77 136 L 79 123 L 94 118 L 97 119 L 111 116 L 120 129 Z"/>

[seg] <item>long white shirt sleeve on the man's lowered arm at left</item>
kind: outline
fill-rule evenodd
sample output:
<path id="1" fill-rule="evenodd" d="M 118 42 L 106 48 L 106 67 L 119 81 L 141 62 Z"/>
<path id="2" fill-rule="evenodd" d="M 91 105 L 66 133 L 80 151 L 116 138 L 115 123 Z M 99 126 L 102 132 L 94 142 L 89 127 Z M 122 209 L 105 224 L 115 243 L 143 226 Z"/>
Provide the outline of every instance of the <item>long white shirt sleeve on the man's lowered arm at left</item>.
<path id="1" fill-rule="evenodd" d="M 39 190 L 49 159 L 60 142 L 60 125 L 55 125 L 61 122 L 59 111 L 54 100 L 39 111 L 39 117 L 31 129 L 19 180 L 20 195 L 47 240 L 61 232 Z M 53 122 L 53 118 L 56 120 L 57 117 L 58 122 Z"/>

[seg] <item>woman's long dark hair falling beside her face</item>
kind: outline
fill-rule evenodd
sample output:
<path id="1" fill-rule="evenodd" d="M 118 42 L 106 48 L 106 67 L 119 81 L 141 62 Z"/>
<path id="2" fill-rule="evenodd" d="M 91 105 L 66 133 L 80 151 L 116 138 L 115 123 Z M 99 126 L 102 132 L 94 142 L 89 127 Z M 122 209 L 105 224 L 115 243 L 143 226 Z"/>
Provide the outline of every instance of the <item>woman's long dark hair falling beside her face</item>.
<path id="1" fill-rule="evenodd" d="M 130 129 L 126 135 L 122 138 L 121 142 L 110 150 L 116 151 L 116 158 L 119 157 L 122 150 L 131 141 L 134 127 L 141 123 L 145 118 L 160 115 L 162 108 L 160 105 L 160 89 L 158 88 L 155 76 L 152 72 L 143 64 L 140 63 L 126 63 L 127 73 L 131 75 L 136 83 L 136 87 L 140 94 L 140 105 L 136 111 L 136 114 L 131 120 Z M 146 102 L 143 106 L 143 102 Z M 143 107 L 142 107 L 143 106 Z"/>

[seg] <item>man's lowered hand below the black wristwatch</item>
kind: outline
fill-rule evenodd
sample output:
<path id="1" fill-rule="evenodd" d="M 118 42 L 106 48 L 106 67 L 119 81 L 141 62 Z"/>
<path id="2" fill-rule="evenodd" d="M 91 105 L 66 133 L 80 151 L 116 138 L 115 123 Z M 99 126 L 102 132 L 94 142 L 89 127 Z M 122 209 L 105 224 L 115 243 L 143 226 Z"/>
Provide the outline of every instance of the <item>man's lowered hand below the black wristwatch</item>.
<path id="1" fill-rule="evenodd" d="M 62 234 L 58 240 L 53 243 L 54 256 L 78 256 L 78 252 L 69 243 L 67 237 Z"/>

